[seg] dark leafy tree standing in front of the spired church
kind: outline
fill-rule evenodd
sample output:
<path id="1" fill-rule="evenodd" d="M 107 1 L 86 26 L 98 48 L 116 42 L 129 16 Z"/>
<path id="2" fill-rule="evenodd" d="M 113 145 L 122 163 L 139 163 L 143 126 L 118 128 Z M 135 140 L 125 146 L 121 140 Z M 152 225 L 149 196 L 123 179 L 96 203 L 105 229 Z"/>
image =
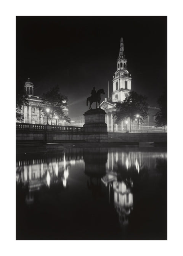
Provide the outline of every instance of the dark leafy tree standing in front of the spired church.
<path id="1" fill-rule="evenodd" d="M 143 123 L 143 119 L 148 115 L 147 97 L 131 91 L 124 101 L 117 102 L 114 119 L 116 124 L 119 124 L 130 118 L 130 132 L 132 132 L 132 122 L 135 121 L 137 114 L 139 114 L 138 122 Z"/>

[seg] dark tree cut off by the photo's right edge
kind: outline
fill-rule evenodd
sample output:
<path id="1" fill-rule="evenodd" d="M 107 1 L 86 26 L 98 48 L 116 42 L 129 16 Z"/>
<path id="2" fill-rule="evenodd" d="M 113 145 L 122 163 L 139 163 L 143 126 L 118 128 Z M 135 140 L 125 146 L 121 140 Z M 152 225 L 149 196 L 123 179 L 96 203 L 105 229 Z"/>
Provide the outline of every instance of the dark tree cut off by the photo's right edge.
<path id="1" fill-rule="evenodd" d="M 157 99 L 160 110 L 155 115 L 156 127 L 167 126 L 167 87 L 164 89 L 163 94 Z"/>

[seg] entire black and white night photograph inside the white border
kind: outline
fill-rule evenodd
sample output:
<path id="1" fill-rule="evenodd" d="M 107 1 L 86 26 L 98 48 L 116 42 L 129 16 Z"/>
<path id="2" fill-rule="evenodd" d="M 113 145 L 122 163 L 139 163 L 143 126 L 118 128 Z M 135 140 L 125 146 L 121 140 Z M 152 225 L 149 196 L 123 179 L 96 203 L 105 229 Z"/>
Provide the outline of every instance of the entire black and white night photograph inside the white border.
<path id="1" fill-rule="evenodd" d="M 16 16 L 16 240 L 167 240 L 167 16 Z"/>

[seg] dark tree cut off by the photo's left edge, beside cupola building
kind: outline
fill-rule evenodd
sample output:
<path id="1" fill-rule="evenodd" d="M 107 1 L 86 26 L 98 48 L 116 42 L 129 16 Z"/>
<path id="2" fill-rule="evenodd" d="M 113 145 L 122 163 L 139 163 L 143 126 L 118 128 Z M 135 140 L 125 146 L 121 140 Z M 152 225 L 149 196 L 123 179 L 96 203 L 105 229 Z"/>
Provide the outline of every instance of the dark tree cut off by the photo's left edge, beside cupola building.
<path id="1" fill-rule="evenodd" d="M 29 105 L 29 99 L 25 95 L 24 92 L 24 85 L 22 81 L 17 80 L 16 81 L 16 120 L 17 121 L 23 121 L 24 116 L 21 113 L 22 106 L 28 106 Z"/>

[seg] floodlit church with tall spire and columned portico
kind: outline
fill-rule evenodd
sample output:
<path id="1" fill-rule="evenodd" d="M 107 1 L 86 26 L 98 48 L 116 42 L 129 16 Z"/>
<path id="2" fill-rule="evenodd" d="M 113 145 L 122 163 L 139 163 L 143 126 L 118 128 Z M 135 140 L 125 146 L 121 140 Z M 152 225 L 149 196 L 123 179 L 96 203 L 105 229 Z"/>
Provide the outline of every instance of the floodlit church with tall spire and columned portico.
<path id="1" fill-rule="evenodd" d="M 105 98 L 104 101 L 100 104 L 100 107 L 106 112 L 105 122 L 108 127 L 108 132 L 126 132 L 127 125 L 124 122 L 121 122 L 121 124 L 117 125 L 113 119 L 113 114 L 116 112 L 116 103 L 124 101 L 125 97 L 128 97 L 128 93 L 132 89 L 132 78 L 131 74 L 127 70 L 127 59 L 124 55 L 123 38 L 120 39 L 119 56 L 117 58 L 117 70 L 113 76 L 112 83 L 112 100 Z M 157 129 L 155 128 L 154 115 L 157 113 L 157 111 L 159 111 L 159 108 L 148 107 L 149 115 L 147 119 L 144 120 L 144 124 L 140 125 L 134 122 L 132 125 L 132 132 L 156 131 Z M 128 130 L 129 125 L 130 121 L 128 122 Z"/>

